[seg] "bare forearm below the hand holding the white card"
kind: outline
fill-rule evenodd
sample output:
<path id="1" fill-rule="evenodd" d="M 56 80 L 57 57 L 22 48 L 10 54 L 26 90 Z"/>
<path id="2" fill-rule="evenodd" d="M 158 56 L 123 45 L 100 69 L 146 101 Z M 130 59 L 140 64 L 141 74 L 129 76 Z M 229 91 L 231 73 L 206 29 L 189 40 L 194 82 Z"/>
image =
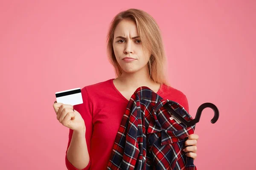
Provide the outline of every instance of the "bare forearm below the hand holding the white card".
<path id="1" fill-rule="evenodd" d="M 73 131 L 70 146 L 67 150 L 67 159 L 77 169 L 85 168 L 89 163 L 89 153 L 85 140 L 85 130 Z"/>

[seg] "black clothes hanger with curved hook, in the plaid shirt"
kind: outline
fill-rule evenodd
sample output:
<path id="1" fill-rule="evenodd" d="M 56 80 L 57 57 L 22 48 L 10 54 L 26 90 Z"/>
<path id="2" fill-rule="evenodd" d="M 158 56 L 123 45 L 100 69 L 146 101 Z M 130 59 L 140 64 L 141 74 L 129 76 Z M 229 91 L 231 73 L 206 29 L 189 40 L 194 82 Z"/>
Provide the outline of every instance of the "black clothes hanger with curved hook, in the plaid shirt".
<path id="1" fill-rule="evenodd" d="M 201 114 L 202 114 L 202 111 L 205 109 L 205 108 L 212 108 L 212 110 L 214 111 L 214 117 L 212 118 L 211 122 L 212 123 L 215 123 L 217 122 L 218 120 L 218 117 L 219 117 L 219 111 L 218 111 L 218 108 L 213 105 L 212 103 L 204 103 L 202 104 L 201 106 L 199 106 L 198 108 L 198 111 L 196 112 L 196 115 L 195 115 L 195 119 L 193 119 L 192 121 L 186 121 L 182 116 L 180 116 L 180 114 L 178 114 L 175 110 L 173 110 L 168 102 L 164 105 L 164 108 L 167 109 L 167 111 L 169 111 L 170 113 L 172 113 L 177 119 L 180 120 L 180 122 L 182 122 L 184 125 L 186 125 L 186 127 L 188 126 L 193 126 L 195 125 L 196 123 L 199 122 L 200 120 L 200 117 L 201 117 Z"/>

